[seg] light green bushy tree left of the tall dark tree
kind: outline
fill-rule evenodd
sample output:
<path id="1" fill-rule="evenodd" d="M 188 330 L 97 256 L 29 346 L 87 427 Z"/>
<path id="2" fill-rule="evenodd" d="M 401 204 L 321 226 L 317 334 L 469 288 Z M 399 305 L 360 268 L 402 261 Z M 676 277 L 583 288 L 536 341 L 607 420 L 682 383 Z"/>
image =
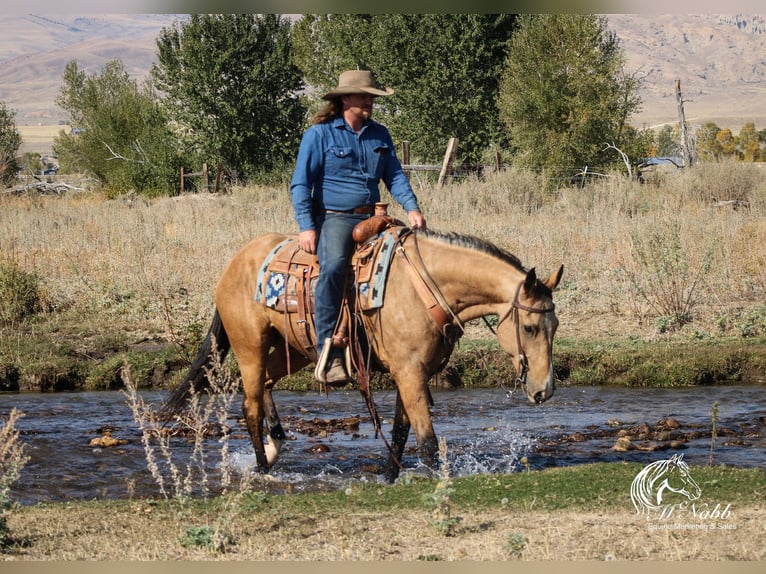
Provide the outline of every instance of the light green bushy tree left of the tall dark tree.
<path id="1" fill-rule="evenodd" d="M 56 103 L 76 128 L 54 141 L 63 171 L 89 172 L 117 192 L 175 189 L 180 158 L 167 120 L 151 89 L 140 88 L 120 60 L 91 76 L 72 60 Z"/>

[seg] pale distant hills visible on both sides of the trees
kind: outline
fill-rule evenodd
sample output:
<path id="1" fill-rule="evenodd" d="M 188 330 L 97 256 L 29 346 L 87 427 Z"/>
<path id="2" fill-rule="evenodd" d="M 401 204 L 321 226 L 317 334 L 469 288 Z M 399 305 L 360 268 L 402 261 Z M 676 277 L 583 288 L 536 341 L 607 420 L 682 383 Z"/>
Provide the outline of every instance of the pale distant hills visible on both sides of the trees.
<path id="1" fill-rule="evenodd" d="M 120 58 L 136 78 L 155 60 L 156 38 L 182 15 L 0 16 L 0 101 L 19 125 L 66 118 L 54 101 L 67 62 L 97 72 Z M 681 81 L 687 119 L 738 130 L 766 128 L 766 15 L 613 14 L 610 28 L 626 52 L 628 73 L 644 78 L 636 127 L 676 122 Z"/>

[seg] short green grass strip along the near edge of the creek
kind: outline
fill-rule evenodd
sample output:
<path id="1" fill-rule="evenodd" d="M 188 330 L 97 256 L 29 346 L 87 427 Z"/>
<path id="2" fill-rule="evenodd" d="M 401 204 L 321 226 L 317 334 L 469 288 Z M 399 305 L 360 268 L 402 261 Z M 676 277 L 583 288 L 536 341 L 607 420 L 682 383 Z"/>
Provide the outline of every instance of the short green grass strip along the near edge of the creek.
<path id="1" fill-rule="evenodd" d="M 450 504 L 456 512 L 490 509 L 579 510 L 632 509 L 630 485 L 643 468 L 638 463 L 595 463 L 513 474 L 474 475 L 451 479 Z M 692 466 L 702 500 L 726 501 L 732 505 L 762 504 L 766 501 L 766 472 L 725 466 Z M 436 479 L 412 478 L 393 486 L 355 484 L 329 493 L 265 495 L 242 498 L 242 511 L 267 512 L 289 518 L 322 513 L 338 514 L 391 510 L 429 510 Z M 89 503 L 90 504 L 90 503 Z M 192 511 L 212 511 L 222 499 L 197 500 Z"/>

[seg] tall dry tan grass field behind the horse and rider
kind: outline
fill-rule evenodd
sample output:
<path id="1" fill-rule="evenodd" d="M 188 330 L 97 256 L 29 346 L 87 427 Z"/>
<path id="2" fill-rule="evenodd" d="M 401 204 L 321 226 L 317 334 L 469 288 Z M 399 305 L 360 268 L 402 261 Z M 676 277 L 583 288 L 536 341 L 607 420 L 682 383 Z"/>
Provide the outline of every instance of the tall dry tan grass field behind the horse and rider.
<path id="1" fill-rule="evenodd" d="M 757 308 L 766 294 L 766 175 L 753 166 L 700 165 L 662 187 L 614 177 L 553 193 L 517 171 L 414 186 L 431 227 L 493 241 L 541 274 L 563 262 L 556 297 L 565 337 L 656 335 L 656 313 L 636 296 L 636 277 L 646 275 L 637 237 L 677 230 L 690 272 L 710 258 L 694 286 L 698 331 L 720 334 L 722 315 Z M 733 198 L 748 206 L 715 206 Z M 0 203 L 0 256 L 44 278 L 48 308 L 159 332 L 168 313 L 178 324 L 207 323 L 218 276 L 249 239 L 296 231 L 286 185 L 151 201 L 83 193 Z"/>

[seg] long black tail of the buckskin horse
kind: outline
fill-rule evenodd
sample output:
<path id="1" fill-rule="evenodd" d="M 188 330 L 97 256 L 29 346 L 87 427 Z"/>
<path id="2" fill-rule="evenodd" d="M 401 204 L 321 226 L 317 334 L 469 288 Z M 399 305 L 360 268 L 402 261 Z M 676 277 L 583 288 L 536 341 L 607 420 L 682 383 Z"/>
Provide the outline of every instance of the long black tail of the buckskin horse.
<path id="1" fill-rule="evenodd" d="M 216 309 L 213 315 L 213 322 L 207 332 L 205 341 L 200 347 L 197 358 L 192 363 L 184 379 L 173 389 L 170 397 L 165 401 L 161 409 L 164 416 L 172 417 L 180 413 L 186 407 L 193 393 L 204 391 L 210 386 L 209 373 L 215 368 L 216 364 L 223 362 L 230 347 L 229 337 L 226 335 L 218 309 Z M 217 358 L 216 355 L 218 355 Z"/>

